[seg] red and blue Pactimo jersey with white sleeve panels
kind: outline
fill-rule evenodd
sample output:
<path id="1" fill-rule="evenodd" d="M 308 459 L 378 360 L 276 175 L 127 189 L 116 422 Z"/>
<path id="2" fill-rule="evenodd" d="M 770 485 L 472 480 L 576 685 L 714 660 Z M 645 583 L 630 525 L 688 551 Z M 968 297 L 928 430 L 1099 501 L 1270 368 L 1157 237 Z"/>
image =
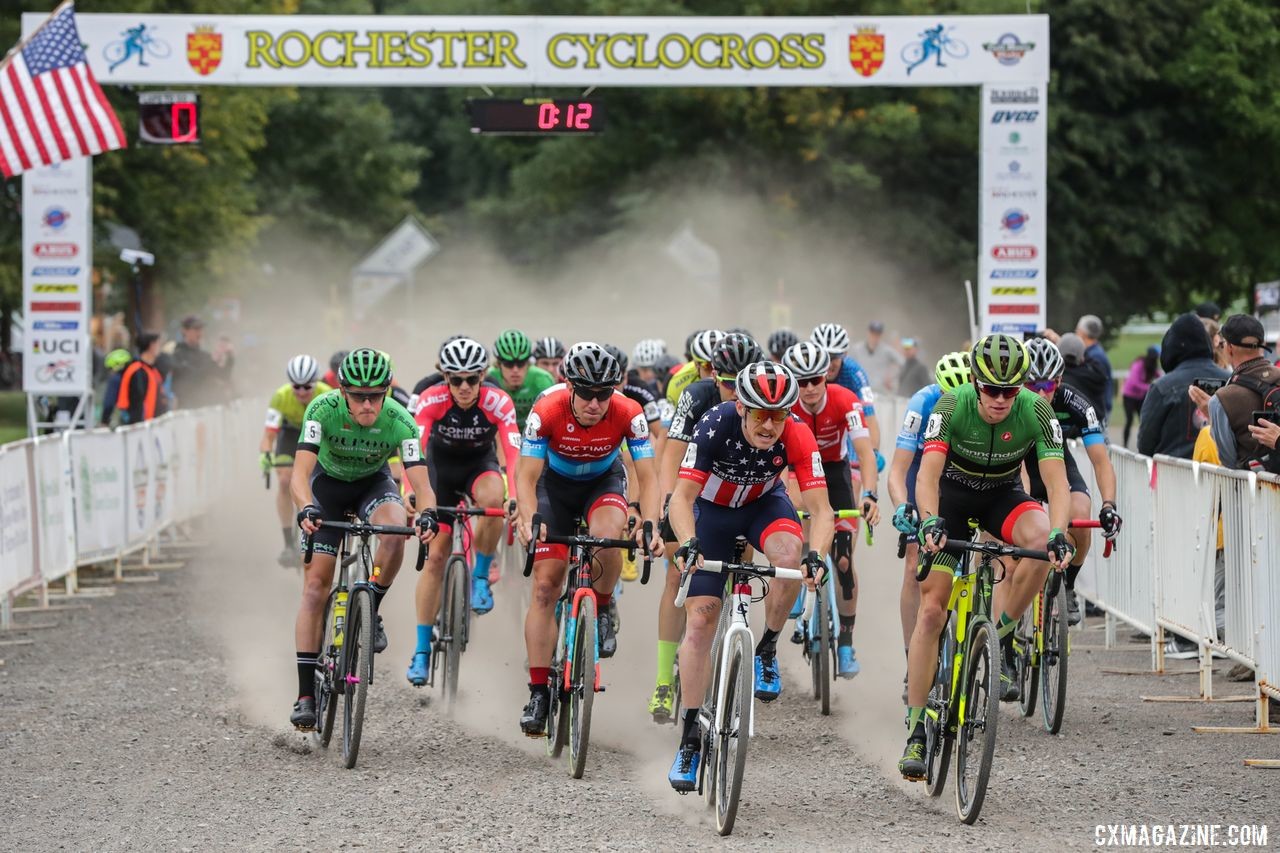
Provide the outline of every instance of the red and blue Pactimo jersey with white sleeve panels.
<path id="1" fill-rule="evenodd" d="M 653 459 L 649 421 L 640 403 L 614 391 L 604 418 L 584 426 L 573 416 L 572 394 L 571 388 L 558 388 L 534 402 L 521 456 L 547 460 L 553 471 L 571 480 L 591 480 L 608 471 L 622 442 L 631 459 Z"/>

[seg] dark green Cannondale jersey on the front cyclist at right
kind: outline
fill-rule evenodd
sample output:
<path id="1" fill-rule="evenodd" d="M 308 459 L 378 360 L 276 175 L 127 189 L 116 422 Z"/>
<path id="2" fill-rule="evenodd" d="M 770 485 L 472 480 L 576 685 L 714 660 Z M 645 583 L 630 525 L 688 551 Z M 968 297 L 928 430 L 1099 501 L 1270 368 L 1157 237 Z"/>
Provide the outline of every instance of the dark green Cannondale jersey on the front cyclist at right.
<path id="1" fill-rule="evenodd" d="M 1012 409 L 998 424 L 988 424 L 978 411 L 978 389 L 961 386 L 938 398 L 924 429 L 924 452 L 945 452 L 945 480 L 977 491 L 1019 483 L 1023 457 L 1036 448 L 1036 459 L 1062 459 L 1062 426 L 1053 407 L 1023 388 Z"/>

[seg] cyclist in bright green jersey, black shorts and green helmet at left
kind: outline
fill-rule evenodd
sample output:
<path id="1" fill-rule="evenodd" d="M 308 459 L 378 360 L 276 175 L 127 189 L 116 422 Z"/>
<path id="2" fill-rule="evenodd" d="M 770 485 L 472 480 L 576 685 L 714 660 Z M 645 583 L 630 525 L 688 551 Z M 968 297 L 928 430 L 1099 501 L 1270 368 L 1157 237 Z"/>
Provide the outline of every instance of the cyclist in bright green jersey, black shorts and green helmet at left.
<path id="1" fill-rule="evenodd" d="M 312 695 L 315 669 L 320 657 L 320 624 L 342 532 L 325 528 L 324 521 L 342 521 L 348 512 L 371 524 L 403 525 L 404 505 L 392 482 L 387 460 L 399 455 L 406 476 L 422 506 L 435 506 L 435 493 L 422 462 L 417 424 L 394 400 L 388 397 L 392 362 L 378 350 L 352 350 L 338 368 L 338 389 L 320 394 L 302 416 L 302 437 L 293 455 L 293 505 L 298 526 L 312 537 L 315 553 L 306 566 L 302 603 L 294 626 L 298 654 L 298 699 L 289 717 L 298 729 L 316 725 Z M 422 511 L 416 526 L 422 542 L 438 530 L 435 515 Z M 399 537 L 379 537 L 374 556 L 374 651 L 387 648 L 383 619 L 376 616 L 383 597 L 390 589 L 404 556 Z"/>

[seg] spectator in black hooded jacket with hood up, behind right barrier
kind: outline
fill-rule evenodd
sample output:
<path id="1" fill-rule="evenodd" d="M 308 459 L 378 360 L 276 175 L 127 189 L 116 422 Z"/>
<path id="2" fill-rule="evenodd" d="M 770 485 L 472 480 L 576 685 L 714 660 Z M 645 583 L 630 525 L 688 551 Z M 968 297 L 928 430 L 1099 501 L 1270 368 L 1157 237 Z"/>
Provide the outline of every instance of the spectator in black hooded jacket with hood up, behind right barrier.
<path id="1" fill-rule="evenodd" d="M 1226 379 L 1228 371 L 1213 364 L 1208 334 L 1194 314 L 1183 314 L 1160 345 L 1165 375 L 1151 383 L 1138 423 L 1138 452 L 1166 453 L 1190 459 L 1196 446 L 1196 405 L 1187 394 L 1194 379 Z"/>

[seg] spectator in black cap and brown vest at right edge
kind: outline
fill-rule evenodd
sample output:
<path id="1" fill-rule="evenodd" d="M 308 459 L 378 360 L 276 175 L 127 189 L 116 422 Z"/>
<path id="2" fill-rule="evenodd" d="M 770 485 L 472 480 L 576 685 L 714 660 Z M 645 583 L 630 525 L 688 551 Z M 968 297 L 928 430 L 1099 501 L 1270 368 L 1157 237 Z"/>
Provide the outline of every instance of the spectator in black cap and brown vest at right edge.
<path id="1" fill-rule="evenodd" d="M 1226 467 L 1249 467 L 1266 455 L 1249 426 L 1263 398 L 1280 387 L 1280 369 L 1267 361 L 1262 323 L 1248 314 L 1233 314 L 1222 325 L 1231 377 L 1208 401 L 1208 420 L 1217 456 Z"/>

